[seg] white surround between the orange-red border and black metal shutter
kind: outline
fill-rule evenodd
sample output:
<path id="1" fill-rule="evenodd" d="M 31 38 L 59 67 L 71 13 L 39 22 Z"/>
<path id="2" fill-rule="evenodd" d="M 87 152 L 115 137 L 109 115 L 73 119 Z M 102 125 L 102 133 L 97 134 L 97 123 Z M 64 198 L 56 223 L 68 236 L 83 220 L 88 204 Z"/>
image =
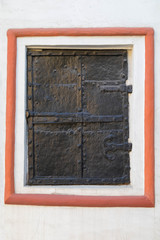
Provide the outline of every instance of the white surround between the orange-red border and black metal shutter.
<path id="1" fill-rule="evenodd" d="M 129 95 L 129 141 L 131 184 L 120 186 L 27 186 L 27 130 L 26 130 L 26 48 L 76 47 L 128 50 L 128 80 L 133 85 Z M 18 37 L 16 64 L 16 122 L 15 122 L 15 193 L 76 194 L 94 196 L 144 195 L 144 81 L 145 37 Z"/>

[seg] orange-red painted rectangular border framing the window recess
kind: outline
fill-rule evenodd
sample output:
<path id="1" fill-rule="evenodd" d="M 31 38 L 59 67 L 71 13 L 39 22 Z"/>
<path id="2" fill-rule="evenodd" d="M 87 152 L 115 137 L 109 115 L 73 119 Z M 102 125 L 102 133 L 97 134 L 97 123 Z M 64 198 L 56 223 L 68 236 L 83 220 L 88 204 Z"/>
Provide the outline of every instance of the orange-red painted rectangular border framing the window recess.
<path id="1" fill-rule="evenodd" d="M 44 206 L 154 207 L 154 31 L 152 28 L 8 30 L 5 203 Z M 145 36 L 145 193 L 143 196 L 17 194 L 14 187 L 16 54 L 18 37 Z"/>

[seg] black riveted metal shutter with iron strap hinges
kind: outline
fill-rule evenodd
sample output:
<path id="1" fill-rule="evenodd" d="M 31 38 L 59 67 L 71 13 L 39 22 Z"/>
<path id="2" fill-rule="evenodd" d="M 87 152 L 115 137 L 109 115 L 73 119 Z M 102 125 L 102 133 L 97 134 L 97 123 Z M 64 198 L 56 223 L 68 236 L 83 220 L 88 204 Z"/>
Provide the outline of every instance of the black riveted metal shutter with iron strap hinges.
<path id="1" fill-rule="evenodd" d="M 28 49 L 28 184 L 130 182 L 126 50 Z"/>

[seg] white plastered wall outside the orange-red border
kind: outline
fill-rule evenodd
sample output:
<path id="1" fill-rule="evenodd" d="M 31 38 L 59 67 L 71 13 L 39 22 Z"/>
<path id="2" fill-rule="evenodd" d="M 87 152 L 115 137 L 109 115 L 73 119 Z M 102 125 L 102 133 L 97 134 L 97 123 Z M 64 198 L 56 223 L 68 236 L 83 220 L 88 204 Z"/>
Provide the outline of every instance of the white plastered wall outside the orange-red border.
<path id="1" fill-rule="evenodd" d="M 145 26 L 155 30 L 155 208 L 4 205 L 7 30 Z M 0 240 L 159 240 L 160 1 L 0 0 L 0 53 Z"/>

